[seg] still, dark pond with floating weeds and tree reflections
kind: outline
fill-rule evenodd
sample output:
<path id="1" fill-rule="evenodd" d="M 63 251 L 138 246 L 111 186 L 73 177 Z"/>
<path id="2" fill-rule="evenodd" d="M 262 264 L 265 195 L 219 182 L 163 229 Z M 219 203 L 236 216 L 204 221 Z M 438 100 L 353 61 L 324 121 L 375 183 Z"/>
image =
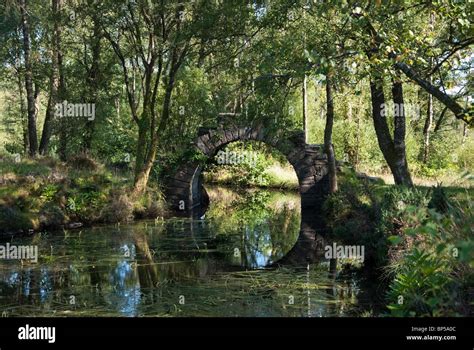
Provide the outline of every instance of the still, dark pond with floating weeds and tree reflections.
<path id="1" fill-rule="evenodd" d="M 9 240 L 38 262 L 0 261 L 3 316 L 357 316 L 376 288 L 307 241 L 297 193 L 207 186 L 197 217 Z M 303 215 L 304 216 L 304 215 Z M 311 220 L 310 220 L 311 221 Z M 316 227 L 316 228 L 315 228 Z M 316 232 L 316 236 L 317 236 Z M 6 245 L 6 241 L 0 244 Z"/>

